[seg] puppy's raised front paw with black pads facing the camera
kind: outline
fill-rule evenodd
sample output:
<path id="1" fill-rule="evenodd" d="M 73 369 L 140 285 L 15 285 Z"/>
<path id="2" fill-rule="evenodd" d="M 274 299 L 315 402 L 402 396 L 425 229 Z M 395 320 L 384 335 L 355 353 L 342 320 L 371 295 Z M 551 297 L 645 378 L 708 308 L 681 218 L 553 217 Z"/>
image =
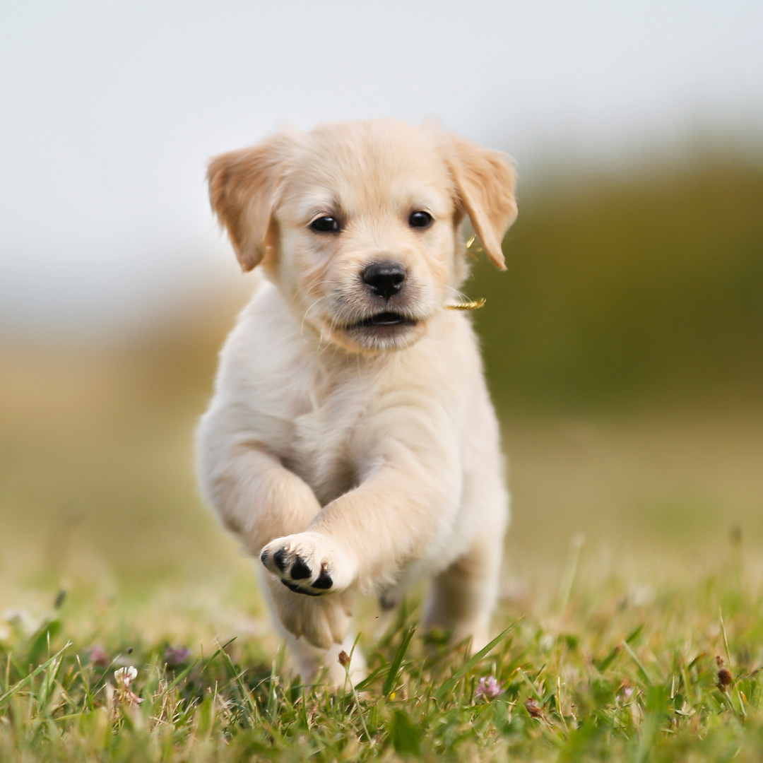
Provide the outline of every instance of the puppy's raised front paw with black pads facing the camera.
<path id="1" fill-rule="evenodd" d="M 262 549 L 259 559 L 295 594 L 335 594 L 348 588 L 354 578 L 347 555 L 320 533 L 276 538 Z"/>

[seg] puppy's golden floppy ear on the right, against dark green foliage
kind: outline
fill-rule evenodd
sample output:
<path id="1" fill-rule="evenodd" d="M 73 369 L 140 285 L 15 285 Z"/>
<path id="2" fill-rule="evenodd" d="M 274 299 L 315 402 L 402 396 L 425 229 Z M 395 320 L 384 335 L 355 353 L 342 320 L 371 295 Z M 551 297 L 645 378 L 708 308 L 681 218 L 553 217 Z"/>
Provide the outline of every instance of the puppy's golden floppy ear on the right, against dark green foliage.
<path id="1" fill-rule="evenodd" d="M 517 219 L 514 172 L 509 157 L 462 138 L 448 136 L 446 161 L 459 193 L 459 205 L 472 221 L 485 252 L 506 269 L 501 241 Z"/>

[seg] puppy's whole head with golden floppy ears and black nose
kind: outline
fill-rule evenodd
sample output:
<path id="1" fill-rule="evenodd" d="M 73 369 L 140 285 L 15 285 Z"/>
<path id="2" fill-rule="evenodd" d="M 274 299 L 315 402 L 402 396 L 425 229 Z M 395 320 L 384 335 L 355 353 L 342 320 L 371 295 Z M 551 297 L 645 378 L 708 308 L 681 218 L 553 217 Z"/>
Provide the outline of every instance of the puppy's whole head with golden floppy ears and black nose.
<path id="1" fill-rule="evenodd" d="M 304 327 L 356 352 L 410 345 L 454 301 L 465 215 L 501 270 L 517 216 L 507 157 L 433 125 L 284 132 L 217 156 L 208 178 L 243 269 L 261 265 Z"/>

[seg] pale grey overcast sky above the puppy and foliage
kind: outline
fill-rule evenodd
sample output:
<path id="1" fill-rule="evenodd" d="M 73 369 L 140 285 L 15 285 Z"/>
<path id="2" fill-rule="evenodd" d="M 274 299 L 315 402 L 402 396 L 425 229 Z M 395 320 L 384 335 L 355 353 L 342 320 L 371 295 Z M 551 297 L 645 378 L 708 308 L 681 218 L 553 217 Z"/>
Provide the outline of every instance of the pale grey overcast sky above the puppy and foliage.
<path id="1" fill-rule="evenodd" d="M 763 136 L 763 2 L 35 2 L 0 9 L 0 327 L 113 327 L 232 278 L 204 166 L 284 121 L 437 116 L 588 159 Z"/>

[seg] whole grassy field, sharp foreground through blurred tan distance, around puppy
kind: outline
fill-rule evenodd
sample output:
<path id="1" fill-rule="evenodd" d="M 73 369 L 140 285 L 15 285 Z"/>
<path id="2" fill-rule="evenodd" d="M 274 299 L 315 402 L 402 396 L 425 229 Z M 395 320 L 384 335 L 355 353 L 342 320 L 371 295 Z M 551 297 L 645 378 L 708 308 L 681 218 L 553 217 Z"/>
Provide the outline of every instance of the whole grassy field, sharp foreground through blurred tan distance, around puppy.
<path id="1" fill-rule="evenodd" d="M 4 360 L 0 760 L 763 755 L 751 410 L 507 414 L 494 632 L 513 627 L 465 662 L 407 641 L 417 592 L 385 631 L 361 601 L 375 678 L 355 697 L 291 680 L 250 562 L 199 504 L 191 434 L 208 393 L 182 355 Z M 114 677 L 130 666 L 136 705 Z M 480 696 L 491 676 L 500 693 Z"/>

